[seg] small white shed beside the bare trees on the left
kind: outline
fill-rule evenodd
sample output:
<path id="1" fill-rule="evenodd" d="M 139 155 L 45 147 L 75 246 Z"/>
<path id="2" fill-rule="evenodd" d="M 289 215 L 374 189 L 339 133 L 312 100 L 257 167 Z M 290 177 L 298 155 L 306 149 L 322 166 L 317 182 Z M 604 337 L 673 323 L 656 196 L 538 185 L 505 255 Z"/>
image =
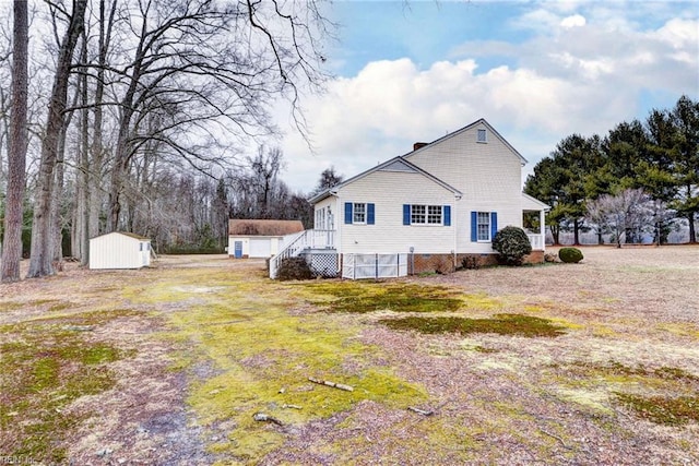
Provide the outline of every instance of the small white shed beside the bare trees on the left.
<path id="1" fill-rule="evenodd" d="M 151 265 L 151 240 L 115 231 L 90 240 L 90 268 L 141 268 Z"/>

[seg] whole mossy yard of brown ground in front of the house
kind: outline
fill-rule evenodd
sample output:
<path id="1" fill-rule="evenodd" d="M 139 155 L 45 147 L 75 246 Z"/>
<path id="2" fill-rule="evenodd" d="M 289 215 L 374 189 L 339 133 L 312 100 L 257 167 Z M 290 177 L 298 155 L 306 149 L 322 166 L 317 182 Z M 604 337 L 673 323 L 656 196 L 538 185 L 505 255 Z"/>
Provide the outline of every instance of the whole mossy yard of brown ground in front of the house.
<path id="1" fill-rule="evenodd" d="M 699 247 L 582 251 L 381 283 L 165 256 L 0 285 L 0 463 L 699 464 Z"/>

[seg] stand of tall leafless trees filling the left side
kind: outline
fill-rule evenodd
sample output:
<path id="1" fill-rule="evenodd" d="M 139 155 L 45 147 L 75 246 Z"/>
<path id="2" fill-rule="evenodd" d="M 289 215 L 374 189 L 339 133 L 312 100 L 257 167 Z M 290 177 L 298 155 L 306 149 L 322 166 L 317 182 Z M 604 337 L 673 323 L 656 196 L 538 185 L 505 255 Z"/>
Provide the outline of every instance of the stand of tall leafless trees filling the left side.
<path id="1" fill-rule="evenodd" d="M 271 108 L 307 134 L 333 29 L 312 0 L 0 4 L 1 279 L 27 252 L 29 277 L 85 264 L 104 232 L 211 246 L 228 215 L 301 215 Z"/>

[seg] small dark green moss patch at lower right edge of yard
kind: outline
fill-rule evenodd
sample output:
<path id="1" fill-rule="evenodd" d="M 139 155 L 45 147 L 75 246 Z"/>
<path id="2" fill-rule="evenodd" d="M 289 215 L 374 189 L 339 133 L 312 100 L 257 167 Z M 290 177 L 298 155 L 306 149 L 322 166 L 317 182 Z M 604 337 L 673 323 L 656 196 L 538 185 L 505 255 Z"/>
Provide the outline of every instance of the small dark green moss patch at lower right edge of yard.
<path id="1" fill-rule="evenodd" d="M 679 426 L 699 421 L 699 396 L 641 396 L 616 393 L 617 401 L 652 422 Z"/>

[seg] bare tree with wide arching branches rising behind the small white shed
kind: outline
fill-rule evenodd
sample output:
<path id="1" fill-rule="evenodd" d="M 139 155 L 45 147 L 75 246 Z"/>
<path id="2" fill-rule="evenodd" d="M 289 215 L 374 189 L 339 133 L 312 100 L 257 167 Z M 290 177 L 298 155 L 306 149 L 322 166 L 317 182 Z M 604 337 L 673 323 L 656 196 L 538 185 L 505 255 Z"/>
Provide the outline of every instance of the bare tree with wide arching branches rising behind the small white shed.
<path id="1" fill-rule="evenodd" d="M 221 162 L 213 151 L 217 134 L 272 134 L 266 110 L 273 99 L 288 96 L 296 104 L 299 86 L 324 79 L 315 33 L 327 22 L 312 1 L 137 3 L 138 12 L 121 16 L 134 32 L 123 41 L 133 44 L 122 47 L 129 58 L 108 67 L 119 96 L 109 230 L 119 224 L 129 160 L 144 141 L 157 140 L 164 154 L 206 169 Z M 141 122 L 153 112 L 162 117 L 159 127 L 143 131 Z M 296 121 L 304 129 L 303 118 Z"/>

